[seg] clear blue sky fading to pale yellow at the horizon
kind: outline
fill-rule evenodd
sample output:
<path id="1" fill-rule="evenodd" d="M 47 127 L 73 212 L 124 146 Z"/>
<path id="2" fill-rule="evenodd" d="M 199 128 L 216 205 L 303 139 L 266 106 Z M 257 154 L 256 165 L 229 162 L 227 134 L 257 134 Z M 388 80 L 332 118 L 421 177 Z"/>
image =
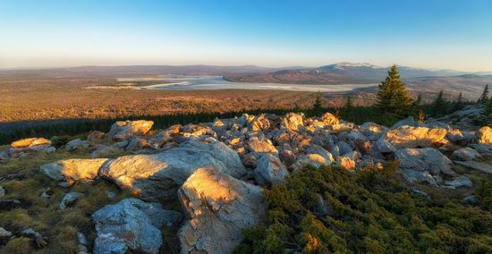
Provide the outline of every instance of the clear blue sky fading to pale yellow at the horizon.
<path id="1" fill-rule="evenodd" d="M 492 72 L 492 1 L 0 0 L 0 68 L 337 62 Z"/>

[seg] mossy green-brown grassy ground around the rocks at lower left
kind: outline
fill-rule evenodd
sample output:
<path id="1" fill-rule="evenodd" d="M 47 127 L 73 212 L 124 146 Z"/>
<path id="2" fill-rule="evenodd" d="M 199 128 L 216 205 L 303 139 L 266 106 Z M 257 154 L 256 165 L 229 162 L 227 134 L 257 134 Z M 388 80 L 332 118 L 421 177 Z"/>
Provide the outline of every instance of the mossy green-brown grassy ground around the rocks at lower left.
<path id="1" fill-rule="evenodd" d="M 120 155 L 115 154 L 115 157 Z M 77 182 L 66 188 L 39 172 L 40 165 L 60 159 L 89 157 L 89 149 L 69 152 L 60 148 L 52 154 L 31 153 L 0 164 L 0 177 L 3 178 L 0 186 L 6 190 L 4 199 L 21 201 L 20 207 L 0 213 L 0 227 L 14 234 L 32 228 L 46 237 L 48 243 L 46 248 L 38 249 L 33 240 L 16 237 L 0 253 L 77 253 L 77 232 L 85 233 L 89 243 L 93 242 L 95 232 L 90 216 L 100 207 L 116 203 L 129 194 L 105 179 L 98 179 L 92 185 Z M 49 190 L 50 197 L 41 198 L 46 190 Z M 70 190 L 79 191 L 82 195 L 72 207 L 62 210 L 59 203 Z M 115 198 L 110 199 L 108 191 L 115 192 Z"/>

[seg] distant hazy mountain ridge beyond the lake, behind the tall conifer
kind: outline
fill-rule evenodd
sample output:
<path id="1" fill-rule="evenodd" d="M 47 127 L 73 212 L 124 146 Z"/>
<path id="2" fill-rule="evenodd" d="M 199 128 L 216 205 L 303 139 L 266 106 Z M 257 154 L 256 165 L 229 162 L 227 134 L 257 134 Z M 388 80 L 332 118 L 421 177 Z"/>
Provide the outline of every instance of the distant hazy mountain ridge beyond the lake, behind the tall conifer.
<path id="1" fill-rule="evenodd" d="M 368 84 L 384 80 L 389 67 L 370 63 L 335 63 L 318 68 L 282 70 L 261 73 L 231 73 L 225 80 L 234 82 L 292 83 L 292 84 Z M 452 70 L 425 70 L 399 66 L 402 79 L 418 93 L 444 90 L 445 93 L 476 99 L 486 84 L 492 83 L 490 75 L 478 75 Z"/>

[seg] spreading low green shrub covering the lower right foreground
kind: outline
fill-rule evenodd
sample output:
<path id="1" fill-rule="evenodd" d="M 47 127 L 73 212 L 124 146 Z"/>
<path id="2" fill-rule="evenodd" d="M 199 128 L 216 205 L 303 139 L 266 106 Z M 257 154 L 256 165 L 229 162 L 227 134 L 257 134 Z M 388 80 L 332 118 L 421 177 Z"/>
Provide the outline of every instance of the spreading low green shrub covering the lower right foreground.
<path id="1" fill-rule="evenodd" d="M 396 164 L 349 173 L 306 168 L 264 190 L 267 221 L 244 231 L 236 253 L 488 253 L 492 214 L 460 199 L 411 194 Z M 478 191 L 490 197 L 490 185 Z M 481 195 L 481 196 L 480 196 Z M 327 213 L 318 208 L 320 200 Z M 481 202 L 481 201 L 480 201 Z M 326 212 L 326 211 L 325 211 Z"/>

